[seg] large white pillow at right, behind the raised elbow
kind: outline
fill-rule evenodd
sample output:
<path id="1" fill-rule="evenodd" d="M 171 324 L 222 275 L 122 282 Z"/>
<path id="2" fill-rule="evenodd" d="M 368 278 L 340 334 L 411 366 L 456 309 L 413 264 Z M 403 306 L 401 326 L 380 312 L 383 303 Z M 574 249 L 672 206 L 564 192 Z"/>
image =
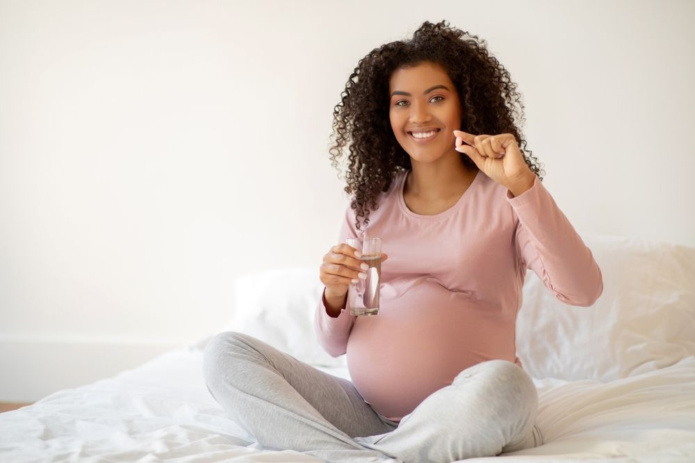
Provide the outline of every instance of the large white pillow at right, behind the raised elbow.
<path id="1" fill-rule="evenodd" d="M 528 270 L 516 355 L 532 377 L 610 381 L 695 355 L 695 248 L 582 236 L 603 273 L 591 307 L 555 299 Z"/>

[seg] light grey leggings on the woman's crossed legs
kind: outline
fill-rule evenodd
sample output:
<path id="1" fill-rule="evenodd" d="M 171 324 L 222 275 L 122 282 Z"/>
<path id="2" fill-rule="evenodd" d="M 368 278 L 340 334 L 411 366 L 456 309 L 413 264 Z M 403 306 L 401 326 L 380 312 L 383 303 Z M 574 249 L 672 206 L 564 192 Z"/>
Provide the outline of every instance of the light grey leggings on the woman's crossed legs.
<path id="1" fill-rule="evenodd" d="M 352 385 L 247 334 L 206 346 L 208 391 L 264 450 L 326 462 L 455 462 L 541 444 L 530 376 L 506 360 L 482 362 L 395 423 Z"/>

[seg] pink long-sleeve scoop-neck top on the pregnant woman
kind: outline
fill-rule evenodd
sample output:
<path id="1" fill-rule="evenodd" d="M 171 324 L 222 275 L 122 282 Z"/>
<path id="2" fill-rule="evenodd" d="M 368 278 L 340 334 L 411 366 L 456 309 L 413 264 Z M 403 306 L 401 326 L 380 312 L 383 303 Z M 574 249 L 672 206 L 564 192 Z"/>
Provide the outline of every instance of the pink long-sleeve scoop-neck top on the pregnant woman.
<path id="1" fill-rule="evenodd" d="M 321 346 L 347 353 L 357 391 L 393 421 L 469 366 L 521 366 L 515 327 L 527 268 L 566 304 L 591 305 L 603 291 L 591 251 L 537 177 L 513 197 L 478 171 L 454 206 L 423 216 L 403 199 L 407 174 L 379 194 L 366 231 L 347 206 L 339 235 L 382 238 L 379 314 L 351 316 L 348 302 L 334 318 L 324 295 L 314 318 Z"/>

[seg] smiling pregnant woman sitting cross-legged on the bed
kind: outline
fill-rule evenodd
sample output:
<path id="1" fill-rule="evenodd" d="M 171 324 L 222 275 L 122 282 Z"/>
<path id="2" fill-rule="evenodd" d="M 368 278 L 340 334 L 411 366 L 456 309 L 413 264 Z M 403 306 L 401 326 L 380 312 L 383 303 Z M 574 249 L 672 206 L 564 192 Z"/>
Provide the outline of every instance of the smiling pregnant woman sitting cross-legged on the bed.
<path id="1" fill-rule="evenodd" d="M 331 149 L 334 165 L 347 151 L 352 201 L 315 313 L 320 345 L 347 354 L 352 381 L 243 333 L 205 352 L 208 389 L 263 448 L 422 463 L 542 443 L 515 347 L 526 270 L 571 305 L 593 304 L 603 279 L 541 184 L 519 101 L 484 42 L 446 22 L 359 61 Z M 369 236 L 384 250 L 379 313 L 351 316 L 347 289 L 364 275 L 344 243 Z"/>

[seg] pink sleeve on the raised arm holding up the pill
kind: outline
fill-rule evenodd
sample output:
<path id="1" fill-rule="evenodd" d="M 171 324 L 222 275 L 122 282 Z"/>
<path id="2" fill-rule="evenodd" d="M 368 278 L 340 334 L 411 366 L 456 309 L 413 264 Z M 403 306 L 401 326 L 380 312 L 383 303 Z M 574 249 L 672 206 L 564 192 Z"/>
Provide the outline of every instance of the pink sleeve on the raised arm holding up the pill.
<path id="1" fill-rule="evenodd" d="M 577 306 L 594 304 L 603 293 L 603 276 L 589 247 L 535 177 L 533 186 L 514 197 L 507 191 L 518 225 L 516 250 L 558 300 Z"/>

